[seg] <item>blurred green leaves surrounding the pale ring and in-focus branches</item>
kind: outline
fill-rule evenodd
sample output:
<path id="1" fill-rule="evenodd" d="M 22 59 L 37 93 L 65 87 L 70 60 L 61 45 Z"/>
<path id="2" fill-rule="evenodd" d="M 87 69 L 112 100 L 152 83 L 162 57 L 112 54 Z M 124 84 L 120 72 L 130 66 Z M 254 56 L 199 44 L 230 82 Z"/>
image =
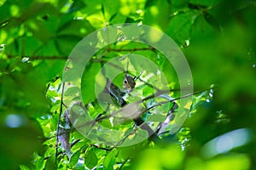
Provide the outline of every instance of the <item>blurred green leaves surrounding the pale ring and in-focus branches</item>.
<path id="1" fill-rule="evenodd" d="M 1 169 L 44 152 L 36 121 L 51 109 L 44 91 L 74 46 L 91 31 L 124 22 L 166 32 L 188 59 L 195 90 L 216 87 L 212 101 L 196 105 L 184 123 L 183 151 L 171 143 L 145 150 L 133 168 L 256 166 L 255 1 L 0 0 L 0 11 Z"/>

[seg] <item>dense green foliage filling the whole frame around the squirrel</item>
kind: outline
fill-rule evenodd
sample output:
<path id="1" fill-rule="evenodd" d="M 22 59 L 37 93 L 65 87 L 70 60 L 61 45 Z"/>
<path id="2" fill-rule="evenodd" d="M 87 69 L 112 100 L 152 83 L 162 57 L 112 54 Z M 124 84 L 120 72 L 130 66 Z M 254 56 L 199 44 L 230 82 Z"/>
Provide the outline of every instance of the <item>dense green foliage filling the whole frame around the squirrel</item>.
<path id="1" fill-rule="evenodd" d="M 255 1 L 0 0 L 0 11 L 1 169 L 255 167 Z M 98 51 L 86 65 L 79 89 L 75 72 L 66 65 L 69 54 L 91 32 L 119 23 L 152 26 L 177 43 L 188 59 L 195 88 L 187 105 L 180 104 L 183 96 L 176 91 L 180 82 L 172 65 L 160 51 L 139 42 L 121 41 Z M 165 74 L 167 88 L 172 89 L 169 102 L 160 105 L 163 99 L 145 99 L 161 88 L 162 77 L 156 77 L 158 71 L 143 65 L 137 55 L 152 60 Z M 119 60 L 112 60 L 116 56 Z M 106 74 L 98 75 L 110 61 L 120 68 L 108 67 Z M 101 78 L 117 70 L 123 71 L 113 80 L 119 88 L 125 71 L 139 76 L 134 94 L 126 99 L 129 103 L 145 99 L 140 103 L 144 109 L 153 105 L 142 115 L 150 127 L 165 121 L 166 108 L 172 111 L 174 105 L 189 114 L 174 108 L 174 119 L 167 126 L 171 131 L 162 133 L 160 142 L 144 139 L 148 133 L 131 120 L 117 126 L 113 117 L 99 121 L 99 113 L 108 115 L 119 107 L 115 103 L 100 108 L 90 92 L 95 84 L 103 90 L 107 82 Z M 80 90 L 84 105 L 73 103 Z M 84 108 L 93 121 L 118 129 L 123 136 L 110 136 L 95 127 L 90 130 L 97 139 L 84 138 L 67 123 L 68 111 Z M 107 144 L 108 138 L 115 140 Z M 125 139 L 140 138 L 140 143 L 119 147 Z M 70 142 L 70 152 L 65 142 Z"/>

